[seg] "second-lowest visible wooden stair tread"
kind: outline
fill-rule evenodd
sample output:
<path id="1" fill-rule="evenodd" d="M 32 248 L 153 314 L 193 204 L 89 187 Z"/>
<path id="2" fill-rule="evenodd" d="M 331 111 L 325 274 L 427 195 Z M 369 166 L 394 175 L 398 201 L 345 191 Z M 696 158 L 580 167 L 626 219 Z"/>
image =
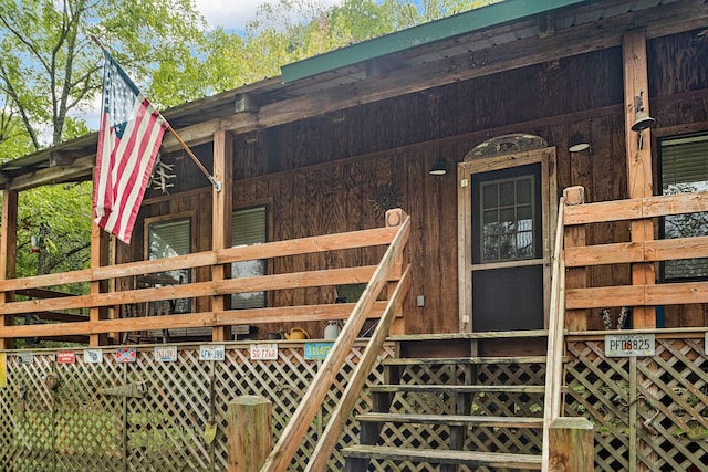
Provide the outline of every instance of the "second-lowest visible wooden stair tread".
<path id="1" fill-rule="evenodd" d="M 488 428 L 543 428 L 543 418 L 529 417 L 483 417 L 464 415 L 398 415 L 362 413 L 356 416 L 361 422 L 391 422 L 408 424 L 447 424 Z"/>

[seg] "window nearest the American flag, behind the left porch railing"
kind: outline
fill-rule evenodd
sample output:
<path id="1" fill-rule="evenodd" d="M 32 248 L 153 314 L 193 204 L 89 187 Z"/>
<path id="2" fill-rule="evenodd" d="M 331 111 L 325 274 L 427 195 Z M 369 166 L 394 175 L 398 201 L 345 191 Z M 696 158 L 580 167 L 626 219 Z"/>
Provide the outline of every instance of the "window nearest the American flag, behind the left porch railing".
<path id="1" fill-rule="evenodd" d="M 147 248 L 148 259 L 150 261 L 189 254 L 191 252 L 191 220 L 189 218 L 181 218 L 149 223 Z M 165 276 L 168 281 L 174 281 L 175 284 L 191 282 L 191 272 L 188 269 L 168 271 L 159 275 Z M 156 285 L 168 285 L 168 283 Z M 191 312 L 190 300 L 176 300 L 171 311 L 173 313 Z"/>

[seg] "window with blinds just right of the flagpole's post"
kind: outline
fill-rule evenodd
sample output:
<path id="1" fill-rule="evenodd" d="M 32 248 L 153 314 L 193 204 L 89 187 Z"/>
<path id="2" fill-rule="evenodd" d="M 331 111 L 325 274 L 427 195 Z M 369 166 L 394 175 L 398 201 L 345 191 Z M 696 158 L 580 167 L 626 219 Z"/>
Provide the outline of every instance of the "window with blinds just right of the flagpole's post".
<path id="1" fill-rule="evenodd" d="M 237 210 L 231 219 L 231 245 L 250 245 L 266 242 L 266 207 Z M 231 264 L 231 277 L 266 275 L 266 260 L 240 261 Z M 236 293 L 231 295 L 231 308 L 262 308 L 266 292 Z"/>

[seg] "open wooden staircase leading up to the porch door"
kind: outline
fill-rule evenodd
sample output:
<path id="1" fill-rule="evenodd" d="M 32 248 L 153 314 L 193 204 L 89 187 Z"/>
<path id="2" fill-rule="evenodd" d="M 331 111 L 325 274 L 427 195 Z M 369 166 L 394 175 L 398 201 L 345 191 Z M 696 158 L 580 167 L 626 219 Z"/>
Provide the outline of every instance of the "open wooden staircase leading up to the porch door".
<path id="1" fill-rule="evenodd" d="M 548 332 L 396 336 L 346 471 L 541 470 Z M 394 465 L 395 464 L 395 465 Z M 407 465 L 406 465 L 407 464 Z M 429 470 L 429 469 L 425 469 Z"/>

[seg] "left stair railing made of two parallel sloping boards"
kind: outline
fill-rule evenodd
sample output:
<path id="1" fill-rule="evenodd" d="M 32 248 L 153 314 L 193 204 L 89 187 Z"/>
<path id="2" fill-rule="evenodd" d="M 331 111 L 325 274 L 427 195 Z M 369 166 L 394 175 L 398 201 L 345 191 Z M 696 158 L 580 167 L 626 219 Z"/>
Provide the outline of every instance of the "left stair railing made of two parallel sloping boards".
<path id="1" fill-rule="evenodd" d="M 278 442 L 273 447 L 272 452 L 266 459 L 266 463 L 261 468 L 261 472 L 280 472 L 288 470 L 293 454 L 296 453 L 302 438 L 312 424 L 312 420 L 319 411 L 320 405 L 324 400 L 330 387 L 336 381 L 337 374 L 346 357 L 350 355 L 352 345 L 356 339 L 356 335 L 362 328 L 369 312 L 374 307 L 375 301 L 381 294 L 387 281 L 393 277 L 396 268 L 403 265 L 403 251 L 409 237 L 410 219 L 400 210 L 395 210 L 395 219 L 400 221 L 399 231 L 392 241 L 386 254 L 384 254 L 381 264 L 371 277 L 364 293 L 360 297 L 356 306 L 347 318 L 346 324 L 342 328 L 336 342 L 332 346 L 324 364 L 317 369 L 317 374 L 310 384 L 308 391 L 303 395 L 303 401 L 298 406 L 292 418 L 288 422 L 285 430 L 280 436 Z M 391 210 L 386 213 L 386 220 L 391 219 Z M 386 303 L 383 316 L 371 337 L 365 352 L 360 359 L 355 371 L 352 374 L 344 394 L 340 398 L 336 410 L 332 413 L 330 421 L 320 438 L 310 462 L 305 471 L 319 472 L 326 469 L 326 461 L 332 453 L 332 449 L 337 442 L 342 426 L 346 422 L 355 402 L 358 399 L 362 387 L 374 365 L 378 353 L 382 349 L 384 340 L 388 335 L 391 322 L 395 313 L 399 310 L 403 300 L 408 293 L 410 286 L 409 268 L 405 268 L 403 276 L 395 284 L 393 293 Z"/>

